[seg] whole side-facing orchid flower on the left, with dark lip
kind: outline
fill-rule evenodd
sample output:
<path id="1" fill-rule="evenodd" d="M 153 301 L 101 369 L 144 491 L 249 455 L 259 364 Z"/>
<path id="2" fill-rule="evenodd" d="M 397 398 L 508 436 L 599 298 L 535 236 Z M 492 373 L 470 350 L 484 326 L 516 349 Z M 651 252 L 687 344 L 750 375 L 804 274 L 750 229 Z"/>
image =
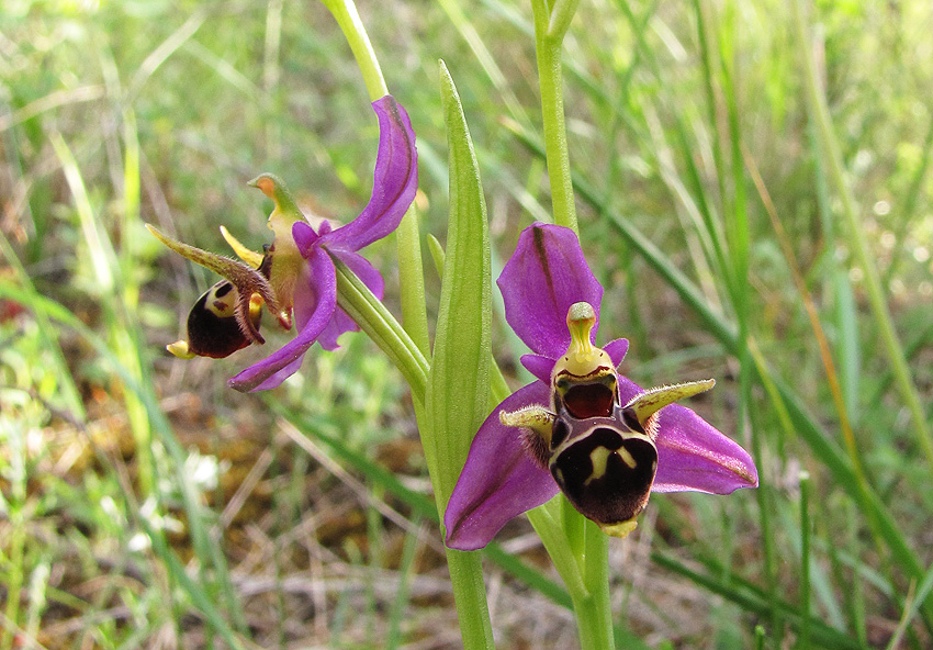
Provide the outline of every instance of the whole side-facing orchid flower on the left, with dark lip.
<path id="1" fill-rule="evenodd" d="M 315 341 L 333 350 L 338 347 L 338 336 L 359 329 L 337 306 L 335 261 L 356 273 L 382 300 L 382 276 L 357 251 L 398 226 L 418 188 L 415 133 L 408 114 L 390 94 L 374 101 L 372 108 L 380 132 L 372 197 L 350 223 L 333 229 L 324 221 L 315 232 L 284 183 L 265 173 L 249 183 L 276 204 L 269 215 L 274 239 L 262 254 L 243 246 L 223 226 L 224 238 L 244 261 L 177 242 L 148 226 L 162 244 L 224 278 L 194 304 L 188 316 L 188 340 L 167 346 L 170 352 L 182 358 L 223 358 L 251 344 L 261 345 L 265 339 L 259 325 L 265 304 L 286 332 L 294 317 L 297 334 L 234 377 L 229 385 L 239 391 L 266 390 L 293 374 Z"/>

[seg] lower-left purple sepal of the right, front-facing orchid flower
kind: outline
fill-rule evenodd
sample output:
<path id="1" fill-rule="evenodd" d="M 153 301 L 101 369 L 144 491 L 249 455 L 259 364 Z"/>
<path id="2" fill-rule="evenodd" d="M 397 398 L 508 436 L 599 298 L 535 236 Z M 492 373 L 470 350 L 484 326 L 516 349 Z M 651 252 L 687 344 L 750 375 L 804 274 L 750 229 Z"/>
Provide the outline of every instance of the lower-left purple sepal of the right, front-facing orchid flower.
<path id="1" fill-rule="evenodd" d="M 498 415 L 499 411 L 548 404 L 548 390 L 537 381 L 519 389 L 480 427 L 443 514 L 448 547 L 463 551 L 483 548 L 509 519 L 558 493 L 551 473 L 525 450 L 519 430 L 503 425 Z"/>

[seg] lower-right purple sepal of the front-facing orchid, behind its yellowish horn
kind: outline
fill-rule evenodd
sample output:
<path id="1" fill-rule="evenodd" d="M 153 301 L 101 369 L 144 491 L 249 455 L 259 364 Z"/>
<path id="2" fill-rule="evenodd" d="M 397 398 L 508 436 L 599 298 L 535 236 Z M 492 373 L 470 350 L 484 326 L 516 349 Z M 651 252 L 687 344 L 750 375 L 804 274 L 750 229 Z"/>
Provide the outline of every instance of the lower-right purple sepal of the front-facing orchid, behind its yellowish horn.
<path id="1" fill-rule="evenodd" d="M 642 392 L 631 380 L 619 379 L 622 404 Z M 652 492 L 729 494 L 757 488 L 758 471 L 749 452 L 686 406 L 662 408 L 655 430 L 657 473 Z"/>

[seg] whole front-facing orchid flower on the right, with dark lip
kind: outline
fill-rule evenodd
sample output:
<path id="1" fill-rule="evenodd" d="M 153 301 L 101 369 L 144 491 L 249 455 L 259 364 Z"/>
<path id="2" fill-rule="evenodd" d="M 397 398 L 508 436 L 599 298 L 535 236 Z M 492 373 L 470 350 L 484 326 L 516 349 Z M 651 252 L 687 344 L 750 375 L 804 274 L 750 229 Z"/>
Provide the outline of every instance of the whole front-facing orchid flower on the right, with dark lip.
<path id="1" fill-rule="evenodd" d="M 616 371 L 628 341 L 594 345 L 603 287 L 573 231 L 526 228 L 498 279 L 506 321 L 538 381 L 476 433 L 445 513 L 447 546 L 475 550 L 564 493 L 608 535 L 636 527 L 651 492 L 729 494 L 758 484 L 749 453 L 674 401 L 712 380 L 642 390 Z"/>

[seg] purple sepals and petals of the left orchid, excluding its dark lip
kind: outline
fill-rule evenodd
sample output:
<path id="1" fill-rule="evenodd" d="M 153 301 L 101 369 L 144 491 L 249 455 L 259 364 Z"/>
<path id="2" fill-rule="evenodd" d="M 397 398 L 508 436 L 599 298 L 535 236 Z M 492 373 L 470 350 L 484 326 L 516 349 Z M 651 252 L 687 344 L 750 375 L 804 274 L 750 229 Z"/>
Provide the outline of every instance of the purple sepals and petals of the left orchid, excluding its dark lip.
<path id="1" fill-rule="evenodd" d="M 231 379 L 229 385 L 238 391 L 278 386 L 301 367 L 304 354 L 315 341 L 325 349 L 335 349 L 340 334 L 358 329 L 337 306 L 336 268 L 331 256 L 346 264 L 382 300 L 382 276 L 357 251 L 398 227 L 415 199 L 418 167 L 415 133 L 405 109 L 389 94 L 374 101 L 372 107 L 379 119 L 380 139 L 370 201 L 357 218 L 336 229 L 327 222 L 317 232 L 304 221 L 292 225 L 291 238 L 306 262 L 294 289 L 299 334 Z M 267 194 L 274 190 L 273 186 L 258 183 L 258 187 Z"/>

